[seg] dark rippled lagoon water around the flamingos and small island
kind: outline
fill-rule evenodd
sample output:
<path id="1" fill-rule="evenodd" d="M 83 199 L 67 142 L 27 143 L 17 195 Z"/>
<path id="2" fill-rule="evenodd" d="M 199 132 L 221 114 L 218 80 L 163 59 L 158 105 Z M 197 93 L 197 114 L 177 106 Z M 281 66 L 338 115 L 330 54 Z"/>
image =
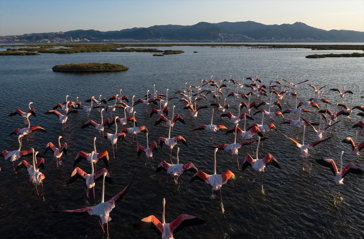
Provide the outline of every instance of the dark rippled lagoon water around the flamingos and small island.
<path id="1" fill-rule="evenodd" d="M 76 97 L 85 105 L 86 99 L 94 95 L 107 99 L 112 95 L 128 95 L 130 100 L 143 98 L 147 90 L 153 91 L 153 84 L 160 93 L 165 93 L 168 88 L 169 97 L 173 91 L 182 89 L 188 82 L 199 85 L 202 79 L 209 79 L 213 75 L 216 82 L 220 82 L 230 75 L 242 83 L 242 78 L 256 75 L 268 86 L 270 80 L 279 78 L 288 81 L 309 80 L 298 85 L 298 102 L 306 101 L 314 94 L 308 83 L 318 87 L 327 85 L 323 91 L 323 98 L 329 99 L 331 111 L 335 111 L 335 103 L 340 101 L 339 94 L 329 91 L 331 88 L 346 86 L 345 90 L 352 90 L 353 95 L 346 94 L 344 101 L 350 105 L 363 105 L 364 100 L 364 58 L 323 58 L 306 59 L 309 54 L 337 53 L 355 51 L 312 51 L 309 49 L 237 49 L 237 48 L 210 48 L 210 47 L 155 47 L 160 50 L 183 50 L 179 55 L 166 55 L 154 57 L 153 53 L 139 52 L 95 52 L 79 54 L 41 54 L 35 56 L 1 56 L 0 57 L 0 150 L 16 150 L 17 138 L 9 137 L 15 128 L 24 127 L 24 119 L 19 115 L 8 117 L 11 111 L 19 108 L 27 110 L 28 103 L 34 102 L 37 117 L 31 116 L 29 121 L 32 126 L 39 125 L 48 134 L 35 132 L 27 139 L 23 139 L 23 148 L 30 147 L 39 150 L 43 155 L 48 142 L 53 142 L 58 147 L 58 136 L 61 135 L 61 144 L 67 142 L 67 155 L 62 156 L 62 166 L 56 167 L 56 161 L 51 152 L 43 155 L 44 197 L 36 195 L 34 185 L 28 181 L 28 173 L 21 169 L 17 174 L 12 169 L 12 163 L 0 160 L 0 234 L 1 238 L 106 238 L 98 223 L 96 216 L 76 216 L 67 213 L 54 214 L 52 210 L 70 210 L 96 205 L 101 200 L 102 182 L 95 185 L 96 200 L 86 198 L 85 183 L 77 180 L 71 185 L 65 185 L 74 169 L 74 158 L 79 151 L 90 153 L 93 150 L 93 137 L 99 137 L 94 128 L 80 129 L 87 121 L 87 115 L 79 110 L 79 114 L 68 117 L 68 128 L 62 131 L 62 125 L 55 115 L 44 115 L 56 103 L 63 103 L 66 95 L 69 100 L 75 101 Z M 198 51 L 198 53 L 193 53 Z M 321 53 L 322 54 L 322 53 Z M 55 73 L 52 67 L 56 64 L 110 62 L 124 64 L 129 70 L 119 73 L 98 74 L 72 74 Z M 246 83 L 246 82 L 245 82 Z M 204 87 L 205 88 L 205 87 Z M 244 87 L 245 88 L 245 87 Z M 236 92 L 236 87 L 230 83 L 229 89 L 224 88 L 224 98 L 231 92 Z M 268 92 L 267 88 L 267 93 Z M 248 88 L 243 89 L 244 93 Z M 224 99 L 223 98 L 223 99 Z M 208 102 L 204 99 L 198 104 L 210 105 L 213 102 L 208 95 Z M 261 97 L 259 101 L 268 101 L 268 97 Z M 247 101 L 244 99 L 247 103 Z M 235 99 L 227 98 L 230 104 L 229 111 L 238 114 Z M 108 102 L 111 105 L 112 102 Z M 86 103 L 87 105 L 87 103 Z M 181 163 L 193 164 L 206 173 L 213 173 L 213 149 L 210 147 L 211 134 L 205 131 L 191 132 L 199 125 L 209 124 L 211 109 L 199 111 L 196 125 L 192 124 L 184 104 L 174 99 L 168 106 L 175 105 L 175 114 L 181 114 L 186 125 L 177 122 L 174 135 L 182 135 L 188 143 L 188 148 L 182 144 L 179 160 Z M 138 125 L 145 125 L 149 132 L 149 143 L 158 142 L 158 137 L 168 136 L 168 127 L 164 124 L 154 126 L 157 117 L 149 117 L 149 110 L 145 112 L 142 104 L 134 109 Z M 158 106 L 159 107 L 159 106 Z M 294 97 L 289 102 L 282 103 L 283 110 L 293 109 Z M 325 105 L 320 103 L 320 108 Z M 209 106 L 210 108 L 210 106 Z M 266 109 L 266 107 L 263 107 Z M 276 109 L 275 109 L 276 110 Z M 313 109 L 311 109 L 313 111 Z M 341 110 L 341 109 L 340 109 Z M 122 110 L 117 114 L 124 117 Z M 253 116 L 250 124 L 260 123 L 261 114 Z M 138 158 L 137 143 L 132 142 L 132 137 L 127 135 L 124 141 L 118 143 L 118 153 L 112 157 L 110 141 L 96 140 L 98 152 L 108 150 L 110 161 L 107 167 L 115 185 L 105 185 L 105 199 L 108 200 L 120 192 L 131 180 L 137 169 L 138 174 L 127 195 L 110 213 L 112 218 L 109 223 L 110 238 L 159 238 L 153 230 L 136 230 L 132 224 L 149 215 L 155 215 L 161 220 L 162 199 L 166 198 L 166 221 L 171 222 L 177 216 L 185 213 L 195 215 L 206 221 L 205 225 L 186 227 L 179 231 L 175 238 L 362 238 L 364 234 L 364 176 L 347 175 L 344 185 L 339 190 L 335 186 L 329 194 L 329 189 L 334 184 L 333 175 L 329 168 L 314 162 L 318 158 L 333 158 L 339 167 L 341 150 L 344 150 L 343 164 L 350 162 L 349 145 L 340 141 L 345 137 L 355 137 L 351 128 L 360 120 L 355 110 L 351 121 L 340 117 L 342 121 L 331 130 L 332 137 L 323 143 L 320 152 L 318 147 L 310 149 L 308 166 L 302 171 L 300 153 L 297 147 L 284 138 L 280 132 L 289 137 L 296 138 L 296 129 L 290 125 L 282 125 L 282 119 L 275 117 L 273 122 L 278 132 L 267 132 L 268 139 L 259 147 L 259 157 L 267 153 L 273 154 L 278 160 L 281 169 L 270 165 L 265 169 L 264 191 L 261 188 L 262 173 L 257 173 L 257 183 L 254 183 L 255 173 L 252 168 L 244 172 L 238 171 L 236 157 L 232 161 L 230 152 L 217 152 L 217 173 L 226 170 L 232 171 L 237 177 L 236 182 L 229 182 L 222 186 L 222 201 L 225 212 L 220 206 L 219 193 L 211 197 L 211 186 L 201 181 L 189 184 L 192 173 L 187 172 L 174 183 L 173 176 L 164 171 L 156 173 L 159 162 L 170 162 L 169 150 L 166 146 L 154 153 L 154 161 L 149 164 L 144 154 Z M 170 114 L 172 112 L 170 111 Z M 170 114 L 169 117 L 170 118 Z M 219 117 L 220 112 L 214 111 L 214 124 L 222 124 L 227 128 L 233 127 L 232 122 Z M 110 117 L 109 111 L 104 112 L 104 118 Z M 317 110 L 306 115 L 306 119 L 318 122 Z M 92 110 L 90 119 L 100 122 L 100 112 Z M 285 119 L 293 119 L 293 115 L 285 115 Z M 264 119 L 265 124 L 268 122 Z M 241 123 L 244 123 L 241 121 Z M 242 126 L 242 124 L 240 124 Z M 364 140 L 363 130 L 357 128 L 357 144 Z M 115 132 L 115 126 L 105 129 L 105 132 Z M 302 140 L 303 129 L 298 133 L 298 141 Z M 254 136 L 254 139 L 256 136 Z M 146 144 L 144 134 L 139 134 L 139 144 Z M 214 134 L 215 144 L 230 144 L 234 141 L 233 134 L 225 132 Z M 240 136 L 238 140 L 241 141 Z M 306 128 L 305 142 L 315 141 L 313 130 Z M 246 154 L 253 156 L 249 146 L 239 150 L 240 167 Z M 177 148 L 173 149 L 173 162 L 176 162 Z M 362 153 L 364 154 L 364 152 Z M 38 157 L 40 158 L 40 157 Z M 23 158 L 28 162 L 31 158 Z M 353 162 L 364 169 L 364 158 Z M 16 163 L 16 162 L 15 162 Z M 87 173 L 91 172 L 90 164 L 82 161 L 78 164 Z M 96 164 L 97 169 L 104 167 L 103 162 Z M 40 187 L 38 188 L 40 189 Z"/>

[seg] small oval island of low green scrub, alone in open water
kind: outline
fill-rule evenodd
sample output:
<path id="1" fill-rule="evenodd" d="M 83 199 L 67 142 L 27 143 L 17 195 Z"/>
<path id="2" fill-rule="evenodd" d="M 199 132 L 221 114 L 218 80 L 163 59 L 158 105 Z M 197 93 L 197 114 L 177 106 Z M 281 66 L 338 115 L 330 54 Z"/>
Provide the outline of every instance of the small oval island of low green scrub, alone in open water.
<path id="1" fill-rule="evenodd" d="M 115 72 L 125 71 L 129 68 L 119 64 L 111 63 L 82 63 L 82 64 L 65 64 L 56 65 L 52 68 L 58 72 Z"/>

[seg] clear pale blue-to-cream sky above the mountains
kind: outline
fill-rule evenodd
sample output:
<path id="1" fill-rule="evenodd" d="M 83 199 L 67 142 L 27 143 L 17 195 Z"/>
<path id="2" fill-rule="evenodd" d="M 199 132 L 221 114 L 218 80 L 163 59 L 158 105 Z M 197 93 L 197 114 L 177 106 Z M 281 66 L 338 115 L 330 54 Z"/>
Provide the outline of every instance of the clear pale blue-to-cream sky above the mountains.
<path id="1" fill-rule="evenodd" d="M 324 30 L 364 31 L 364 1 L 0 0 L 1 36 L 248 20 L 263 24 L 300 21 Z"/>

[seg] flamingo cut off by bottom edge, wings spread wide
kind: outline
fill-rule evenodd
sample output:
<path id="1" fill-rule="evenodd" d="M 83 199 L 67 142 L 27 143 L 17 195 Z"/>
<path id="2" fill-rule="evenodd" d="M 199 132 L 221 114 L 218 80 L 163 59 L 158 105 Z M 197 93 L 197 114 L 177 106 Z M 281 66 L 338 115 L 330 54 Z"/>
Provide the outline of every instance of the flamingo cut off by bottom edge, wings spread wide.
<path id="1" fill-rule="evenodd" d="M 162 239 L 173 239 L 173 236 L 183 227 L 205 224 L 204 220 L 186 214 L 182 214 L 171 223 L 166 223 L 164 218 L 166 199 L 163 198 L 162 202 L 162 223 L 154 215 L 151 215 L 143 218 L 140 222 L 134 224 L 133 227 L 141 230 L 153 229 Z"/>

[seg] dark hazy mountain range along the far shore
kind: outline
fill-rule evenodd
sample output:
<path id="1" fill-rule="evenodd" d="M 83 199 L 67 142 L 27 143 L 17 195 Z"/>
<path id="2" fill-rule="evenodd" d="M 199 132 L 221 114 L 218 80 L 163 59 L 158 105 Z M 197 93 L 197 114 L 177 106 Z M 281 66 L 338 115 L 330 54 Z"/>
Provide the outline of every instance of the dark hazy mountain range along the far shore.
<path id="1" fill-rule="evenodd" d="M 75 30 L 67 32 L 33 33 L 17 36 L 19 40 L 88 39 L 97 40 L 170 40 L 170 41 L 324 41 L 364 42 L 364 32 L 349 30 L 322 30 L 296 22 L 293 24 L 265 25 L 254 21 L 207 23 L 192 26 L 155 25 L 120 31 Z"/>

